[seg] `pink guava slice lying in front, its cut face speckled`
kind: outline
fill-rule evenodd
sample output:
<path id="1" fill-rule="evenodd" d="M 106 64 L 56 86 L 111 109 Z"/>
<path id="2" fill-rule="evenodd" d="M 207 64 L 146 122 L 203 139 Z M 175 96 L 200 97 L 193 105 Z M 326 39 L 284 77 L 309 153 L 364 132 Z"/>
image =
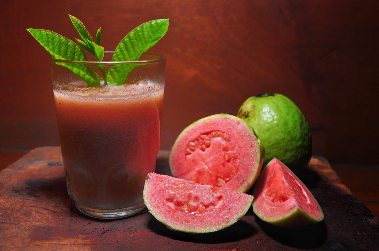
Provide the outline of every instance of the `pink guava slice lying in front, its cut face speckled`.
<path id="1" fill-rule="evenodd" d="M 190 233 L 215 232 L 233 225 L 253 196 L 150 173 L 143 198 L 149 212 L 170 229 Z"/>

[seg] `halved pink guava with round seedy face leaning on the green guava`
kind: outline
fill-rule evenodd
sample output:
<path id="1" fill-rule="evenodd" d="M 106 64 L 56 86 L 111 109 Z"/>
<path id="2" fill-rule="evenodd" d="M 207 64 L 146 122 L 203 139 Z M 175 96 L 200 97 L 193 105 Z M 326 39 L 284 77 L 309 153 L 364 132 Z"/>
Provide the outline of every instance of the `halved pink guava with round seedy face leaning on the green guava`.
<path id="1" fill-rule="evenodd" d="M 262 144 L 246 122 L 216 114 L 180 133 L 169 164 L 177 178 L 245 192 L 258 178 L 264 156 Z"/>

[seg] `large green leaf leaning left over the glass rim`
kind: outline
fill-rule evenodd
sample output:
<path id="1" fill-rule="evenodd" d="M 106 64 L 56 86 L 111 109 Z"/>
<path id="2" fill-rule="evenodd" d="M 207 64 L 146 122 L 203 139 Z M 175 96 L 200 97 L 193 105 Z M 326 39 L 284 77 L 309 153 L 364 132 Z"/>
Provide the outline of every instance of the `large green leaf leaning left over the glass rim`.
<path id="1" fill-rule="evenodd" d="M 55 59 L 87 61 L 84 51 L 72 40 L 53 31 L 44 29 L 27 29 L 27 31 L 29 31 L 34 39 L 36 39 L 45 50 L 49 51 Z M 88 85 L 96 86 L 100 84 L 97 73 L 85 65 L 73 63 L 59 64 L 70 69 L 75 75 L 80 76 Z"/>

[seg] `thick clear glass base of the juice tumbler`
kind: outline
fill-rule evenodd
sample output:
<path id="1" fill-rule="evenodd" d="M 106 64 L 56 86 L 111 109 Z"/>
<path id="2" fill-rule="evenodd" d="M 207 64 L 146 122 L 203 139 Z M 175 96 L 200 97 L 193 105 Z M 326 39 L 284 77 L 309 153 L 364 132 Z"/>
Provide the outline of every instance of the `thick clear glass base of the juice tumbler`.
<path id="1" fill-rule="evenodd" d="M 123 218 L 123 217 L 136 214 L 142 211 L 144 208 L 146 208 L 145 203 L 143 201 L 135 206 L 131 206 L 128 208 L 112 209 L 112 210 L 88 208 L 86 206 L 80 205 L 76 201 L 75 201 L 75 206 L 81 213 L 87 216 L 99 218 L 99 219 Z"/>

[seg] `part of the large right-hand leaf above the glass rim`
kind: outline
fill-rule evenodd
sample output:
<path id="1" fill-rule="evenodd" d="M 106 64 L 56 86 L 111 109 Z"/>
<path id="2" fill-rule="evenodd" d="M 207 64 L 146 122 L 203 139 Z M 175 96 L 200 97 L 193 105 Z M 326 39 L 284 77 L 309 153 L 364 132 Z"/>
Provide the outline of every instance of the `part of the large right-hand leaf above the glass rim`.
<path id="1" fill-rule="evenodd" d="M 135 61 L 166 34 L 168 19 L 152 20 L 130 31 L 117 45 L 111 61 Z"/>

